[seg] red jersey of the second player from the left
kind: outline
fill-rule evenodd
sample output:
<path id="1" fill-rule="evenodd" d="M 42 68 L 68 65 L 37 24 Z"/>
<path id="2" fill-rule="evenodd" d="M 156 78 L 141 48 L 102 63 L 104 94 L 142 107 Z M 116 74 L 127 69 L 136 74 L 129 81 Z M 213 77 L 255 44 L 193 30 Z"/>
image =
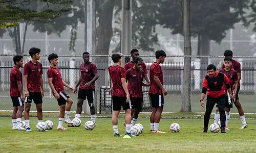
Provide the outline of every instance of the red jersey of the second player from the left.
<path id="1" fill-rule="evenodd" d="M 24 75 L 28 75 L 28 91 L 29 92 L 41 92 L 40 75 L 42 74 L 42 64 L 36 62 L 34 64 L 29 61 L 24 65 Z"/>

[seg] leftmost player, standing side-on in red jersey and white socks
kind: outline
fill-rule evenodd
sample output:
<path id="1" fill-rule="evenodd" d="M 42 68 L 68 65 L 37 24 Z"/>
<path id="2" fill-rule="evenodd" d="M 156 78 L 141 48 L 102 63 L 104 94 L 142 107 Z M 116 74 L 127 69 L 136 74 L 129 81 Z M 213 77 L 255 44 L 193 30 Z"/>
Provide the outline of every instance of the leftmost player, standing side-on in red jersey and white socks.
<path id="1" fill-rule="evenodd" d="M 22 72 L 19 70 L 23 67 L 23 56 L 16 55 L 13 57 L 15 64 L 10 74 L 10 96 L 12 98 L 12 129 L 26 130 L 22 127 L 22 112 L 24 110 L 24 94 L 22 87 Z"/>

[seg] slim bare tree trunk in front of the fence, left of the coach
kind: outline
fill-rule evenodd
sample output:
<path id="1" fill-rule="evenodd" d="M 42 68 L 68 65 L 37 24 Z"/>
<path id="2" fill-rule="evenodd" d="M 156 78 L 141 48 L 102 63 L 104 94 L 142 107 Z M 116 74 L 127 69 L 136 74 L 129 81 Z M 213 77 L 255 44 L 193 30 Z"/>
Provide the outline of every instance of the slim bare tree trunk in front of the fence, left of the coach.
<path id="1" fill-rule="evenodd" d="M 184 55 L 191 55 L 190 40 L 190 0 L 183 0 L 183 35 L 184 35 Z M 191 87 L 191 57 L 184 58 L 184 71 L 182 80 L 182 105 L 181 112 L 191 112 L 190 87 Z"/>

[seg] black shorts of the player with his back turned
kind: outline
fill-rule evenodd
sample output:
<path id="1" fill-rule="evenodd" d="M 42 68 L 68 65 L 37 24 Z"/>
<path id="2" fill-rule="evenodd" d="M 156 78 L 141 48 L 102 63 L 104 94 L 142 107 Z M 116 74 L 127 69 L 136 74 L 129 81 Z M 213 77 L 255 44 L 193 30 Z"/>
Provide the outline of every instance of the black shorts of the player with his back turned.
<path id="1" fill-rule="evenodd" d="M 113 111 L 120 111 L 121 107 L 123 110 L 132 109 L 131 102 L 126 103 L 126 97 L 116 97 L 112 96 L 113 101 Z"/>

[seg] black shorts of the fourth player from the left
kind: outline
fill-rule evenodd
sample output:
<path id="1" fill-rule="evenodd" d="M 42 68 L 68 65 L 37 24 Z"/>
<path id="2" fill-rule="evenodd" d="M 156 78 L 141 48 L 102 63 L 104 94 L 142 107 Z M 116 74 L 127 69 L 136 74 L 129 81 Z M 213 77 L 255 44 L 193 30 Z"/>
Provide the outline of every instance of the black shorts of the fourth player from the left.
<path id="1" fill-rule="evenodd" d="M 89 90 L 84 90 L 84 89 L 79 89 L 78 91 L 78 99 L 83 99 L 88 101 L 88 104 L 90 107 L 94 106 L 94 95 L 95 95 L 95 90 L 89 89 Z"/>

